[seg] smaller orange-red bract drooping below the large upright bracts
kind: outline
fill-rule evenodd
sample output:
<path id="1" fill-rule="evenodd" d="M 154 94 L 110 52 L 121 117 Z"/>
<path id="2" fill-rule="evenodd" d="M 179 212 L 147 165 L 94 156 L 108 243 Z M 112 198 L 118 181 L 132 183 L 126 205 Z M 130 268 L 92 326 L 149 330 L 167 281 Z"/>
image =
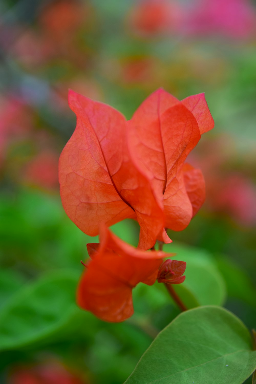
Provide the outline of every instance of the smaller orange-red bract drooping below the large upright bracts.
<path id="1" fill-rule="evenodd" d="M 102 320 L 113 322 L 132 316 L 132 288 L 139 282 L 153 285 L 163 258 L 172 256 L 162 251 L 145 252 L 131 247 L 105 225 L 101 226 L 100 243 L 88 244 L 87 249 L 92 260 L 86 265 L 78 285 L 78 305 Z M 170 264 L 170 260 L 167 261 Z M 174 276 L 180 276 L 183 272 L 179 274 L 180 264 L 177 263 L 183 262 L 173 260 L 172 263 Z M 160 274 L 162 276 L 162 272 Z"/>

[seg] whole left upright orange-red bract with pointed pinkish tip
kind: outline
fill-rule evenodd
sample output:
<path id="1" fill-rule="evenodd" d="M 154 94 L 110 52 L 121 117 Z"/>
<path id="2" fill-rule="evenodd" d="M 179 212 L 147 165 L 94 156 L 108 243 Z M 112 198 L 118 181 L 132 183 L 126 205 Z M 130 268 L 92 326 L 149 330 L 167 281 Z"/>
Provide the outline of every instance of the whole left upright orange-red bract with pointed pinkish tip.
<path id="1" fill-rule="evenodd" d="M 151 248 L 164 228 L 162 200 L 134 164 L 126 119 L 116 109 L 73 91 L 69 103 L 78 123 L 60 159 L 64 209 L 89 235 L 97 234 L 101 222 L 110 226 L 136 217 L 139 247 Z"/>

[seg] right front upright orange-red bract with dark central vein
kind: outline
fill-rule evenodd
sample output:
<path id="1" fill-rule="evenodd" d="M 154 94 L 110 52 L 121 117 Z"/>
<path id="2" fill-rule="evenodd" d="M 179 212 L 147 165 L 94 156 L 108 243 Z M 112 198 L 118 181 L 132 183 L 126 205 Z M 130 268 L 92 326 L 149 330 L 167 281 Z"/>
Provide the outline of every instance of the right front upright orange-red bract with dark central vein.
<path id="1" fill-rule="evenodd" d="M 129 145 L 136 164 L 151 179 L 159 200 L 164 193 L 168 228 L 182 230 L 192 218 L 191 202 L 178 173 L 200 137 L 193 114 L 163 89 L 151 94 L 129 122 Z M 158 239 L 168 242 L 164 235 L 162 231 Z"/>

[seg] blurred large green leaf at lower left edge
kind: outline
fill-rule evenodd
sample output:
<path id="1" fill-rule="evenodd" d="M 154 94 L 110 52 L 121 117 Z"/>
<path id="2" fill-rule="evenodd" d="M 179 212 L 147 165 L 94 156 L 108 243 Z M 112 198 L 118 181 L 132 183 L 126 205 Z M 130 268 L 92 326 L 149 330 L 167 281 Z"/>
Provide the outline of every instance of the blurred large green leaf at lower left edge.
<path id="1" fill-rule="evenodd" d="M 51 273 L 25 285 L 0 311 L 0 349 L 20 348 L 49 338 L 69 323 L 78 308 L 73 271 Z"/>

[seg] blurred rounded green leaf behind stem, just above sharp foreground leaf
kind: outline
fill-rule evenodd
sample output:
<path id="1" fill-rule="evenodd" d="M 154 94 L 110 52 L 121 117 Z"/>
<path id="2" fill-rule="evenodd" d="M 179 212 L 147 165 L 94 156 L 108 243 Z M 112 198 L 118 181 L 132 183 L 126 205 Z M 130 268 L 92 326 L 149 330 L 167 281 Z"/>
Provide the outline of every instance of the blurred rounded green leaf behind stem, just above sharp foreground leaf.
<path id="1" fill-rule="evenodd" d="M 173 286 L 187 308 L 198 305 L 222 305 L 226 298 L 223 277 L 208 252 L 184 245 L 164 245 L 165 252 L 187 263 L 184 283 Z"/>

